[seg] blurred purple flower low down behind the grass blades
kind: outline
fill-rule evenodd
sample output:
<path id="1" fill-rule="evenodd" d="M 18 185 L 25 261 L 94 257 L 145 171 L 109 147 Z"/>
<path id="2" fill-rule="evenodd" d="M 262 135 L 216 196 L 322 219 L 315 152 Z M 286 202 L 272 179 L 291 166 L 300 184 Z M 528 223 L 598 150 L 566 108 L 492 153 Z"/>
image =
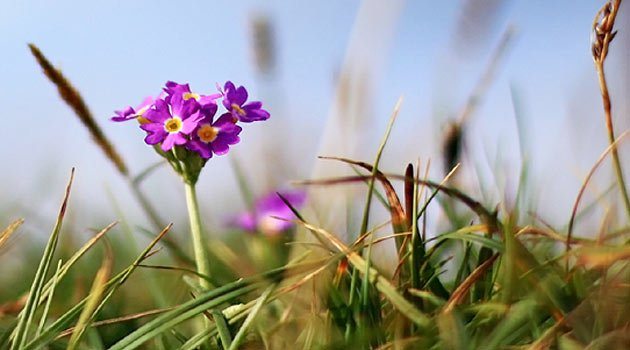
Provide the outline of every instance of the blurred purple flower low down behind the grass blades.
<path id="1" fill-rule="evenodd" d="M 280 194 L 282 194 L 295 209 L 302 208 L 306 202 L 306 192 L 304 191 L 287 191 L 281 192 Z M 242 213 L 231 223 L 246 231 L 260 231 L 267 236 L 275 236 L 293 227 L 293 222 L 286 220 L 294 218 L 295 215 L 291 209 L 282 201 L 277 193 L 272 192 L 256 201 L 254 204 L 254 212 Z"/>

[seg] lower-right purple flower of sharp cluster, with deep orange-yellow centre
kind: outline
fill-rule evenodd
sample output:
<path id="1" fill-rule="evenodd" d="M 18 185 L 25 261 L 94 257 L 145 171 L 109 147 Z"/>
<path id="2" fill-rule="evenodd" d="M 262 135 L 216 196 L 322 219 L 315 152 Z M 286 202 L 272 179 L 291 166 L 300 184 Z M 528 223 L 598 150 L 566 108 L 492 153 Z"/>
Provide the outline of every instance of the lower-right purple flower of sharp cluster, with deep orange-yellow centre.
<path id="1" fill-rule="evenodd" d="M 241 130 L 243 129 L 234 123 L 229 113 L 223 114 L 215 122 L 212 122 L 212 115 L 206 116 L 190 135 L 186 147 L 204 159 L 212 158 L 213 153 L 224 155 L 230 150 L 230 145 L 241 141 L 238 137 Z"/>

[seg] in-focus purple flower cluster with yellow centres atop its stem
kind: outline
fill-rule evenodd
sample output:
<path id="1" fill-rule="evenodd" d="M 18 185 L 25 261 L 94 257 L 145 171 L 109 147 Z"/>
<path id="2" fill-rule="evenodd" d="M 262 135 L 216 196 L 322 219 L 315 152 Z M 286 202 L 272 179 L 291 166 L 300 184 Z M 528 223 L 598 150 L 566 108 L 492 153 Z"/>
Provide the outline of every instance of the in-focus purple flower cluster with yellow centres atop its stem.
<path id="1" fill-rule="evenodd" d="M 213 154 L 226 154 L 231 145 L 240 141 L 238 135 L 242 128 L 238 122 L 269 119 L 262 102 L 247 102 L 247 98 L 247 90 L 243 86 L 236 87 L 231 81 L 212 95 L 200 95 L 192 92 L 188 84 L 169 81 L 156 98 L 145 99 L 135 109 L 127 107 L 116 111 L 111 120 L 136 119 L 147 133 L 144 139 L 147 144 L 159 144 L 164 152 L 182 146 L 209 159 Z M 215 120 L 219 99 L 226 112 Z"/>

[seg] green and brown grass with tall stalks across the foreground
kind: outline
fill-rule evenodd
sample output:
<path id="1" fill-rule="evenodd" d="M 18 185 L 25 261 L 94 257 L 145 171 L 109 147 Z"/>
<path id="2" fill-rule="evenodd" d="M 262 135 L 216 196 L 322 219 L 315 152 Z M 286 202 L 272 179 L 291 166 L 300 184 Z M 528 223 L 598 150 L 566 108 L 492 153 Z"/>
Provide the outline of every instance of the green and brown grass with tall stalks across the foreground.
<path id="1" fill-rule="evenodd" d="M 511 31 L 464 106 L 463 117 L 444 135 L 449 167 L 443 179 L 428 178 L 430 162 L 424 172 L 419 162 L 401 164 L 402 174 L 379 168 L 387 143 L 396 141 L 389 134 L 402 108 L 399 101 L 373 163 L 321 157 L 319 161 L 349 167 L 354 175 L 296 182 L 329 191 L 364 186 L 365 196 L 352 199 L 362 208 L 360 228 L 332 232 L 279 194 L 295 214 L 291 229 L 277 236 L 206 235 L 207 241 L 195 242 L 194 254 L 183 248 L 189 242 L 170 237 L 172 225 L 162 222 L 157 206 L 142 192 L 142 182 L 157 166 L 133 176 L 78 90 L 30 45 L 64 101 L 128 180 L 153 225 L 141 231 L 152 239 L 139 252 L 129 249 L 129 235 L 137 232 L 123 221 L 124 232 L 114 222 L 83 245 L 75 243 L 80 228 L 64 225 L 73 170 L 48 243 L 37 259 L 29 258 L 39 260 L 35 271 L 10 284 L 19 290 L 17 296 L 0 291 L 0 349 L 630 347 L 630 217 L 609 212 L 601 217 L 596 235 L 574 233 L 598 205 L 616 204 L 610 195 L 582 202 L 608 156 L 617 176 L 610 191 L 627 202 L 618 153 L 628 131 L 615 136 L 603 70 L 619 4 L 606 4 L 594 25 L 593 55 L 610 145 L 586 175 L 562 229 L 528 212 L 524 198 L 532 194 L 526 192 L 525 170 L 512 202 L 487 203 L 458 181 L 466 174 L 459 165 L 464 121 L 490 84 Z M 245 202 L 253 206 L 247 174 L 236 161 L 234 167 Z M 194 193 L 189 199 L 196 201 Z M 376 205 L 387 213 L 386 222 L 374 223 Z M 197 208 L 196 203 L 190 206 Z M 437 225 L 427 223 L 431 210 L 445 214 Z M 197 235 L 202 219 L 198 212 L 191 214 Z M 10 242 L 23 222 L 14 220 L 1 231 L 0 250 L 14 248 Z M 387 244 L 394 251 L 391 259 L 377 263 L 374 248 Z M 102 254 L 97 245 L 104 247 Z M 194 255 L 208 264 L 196 267 Z"/>

